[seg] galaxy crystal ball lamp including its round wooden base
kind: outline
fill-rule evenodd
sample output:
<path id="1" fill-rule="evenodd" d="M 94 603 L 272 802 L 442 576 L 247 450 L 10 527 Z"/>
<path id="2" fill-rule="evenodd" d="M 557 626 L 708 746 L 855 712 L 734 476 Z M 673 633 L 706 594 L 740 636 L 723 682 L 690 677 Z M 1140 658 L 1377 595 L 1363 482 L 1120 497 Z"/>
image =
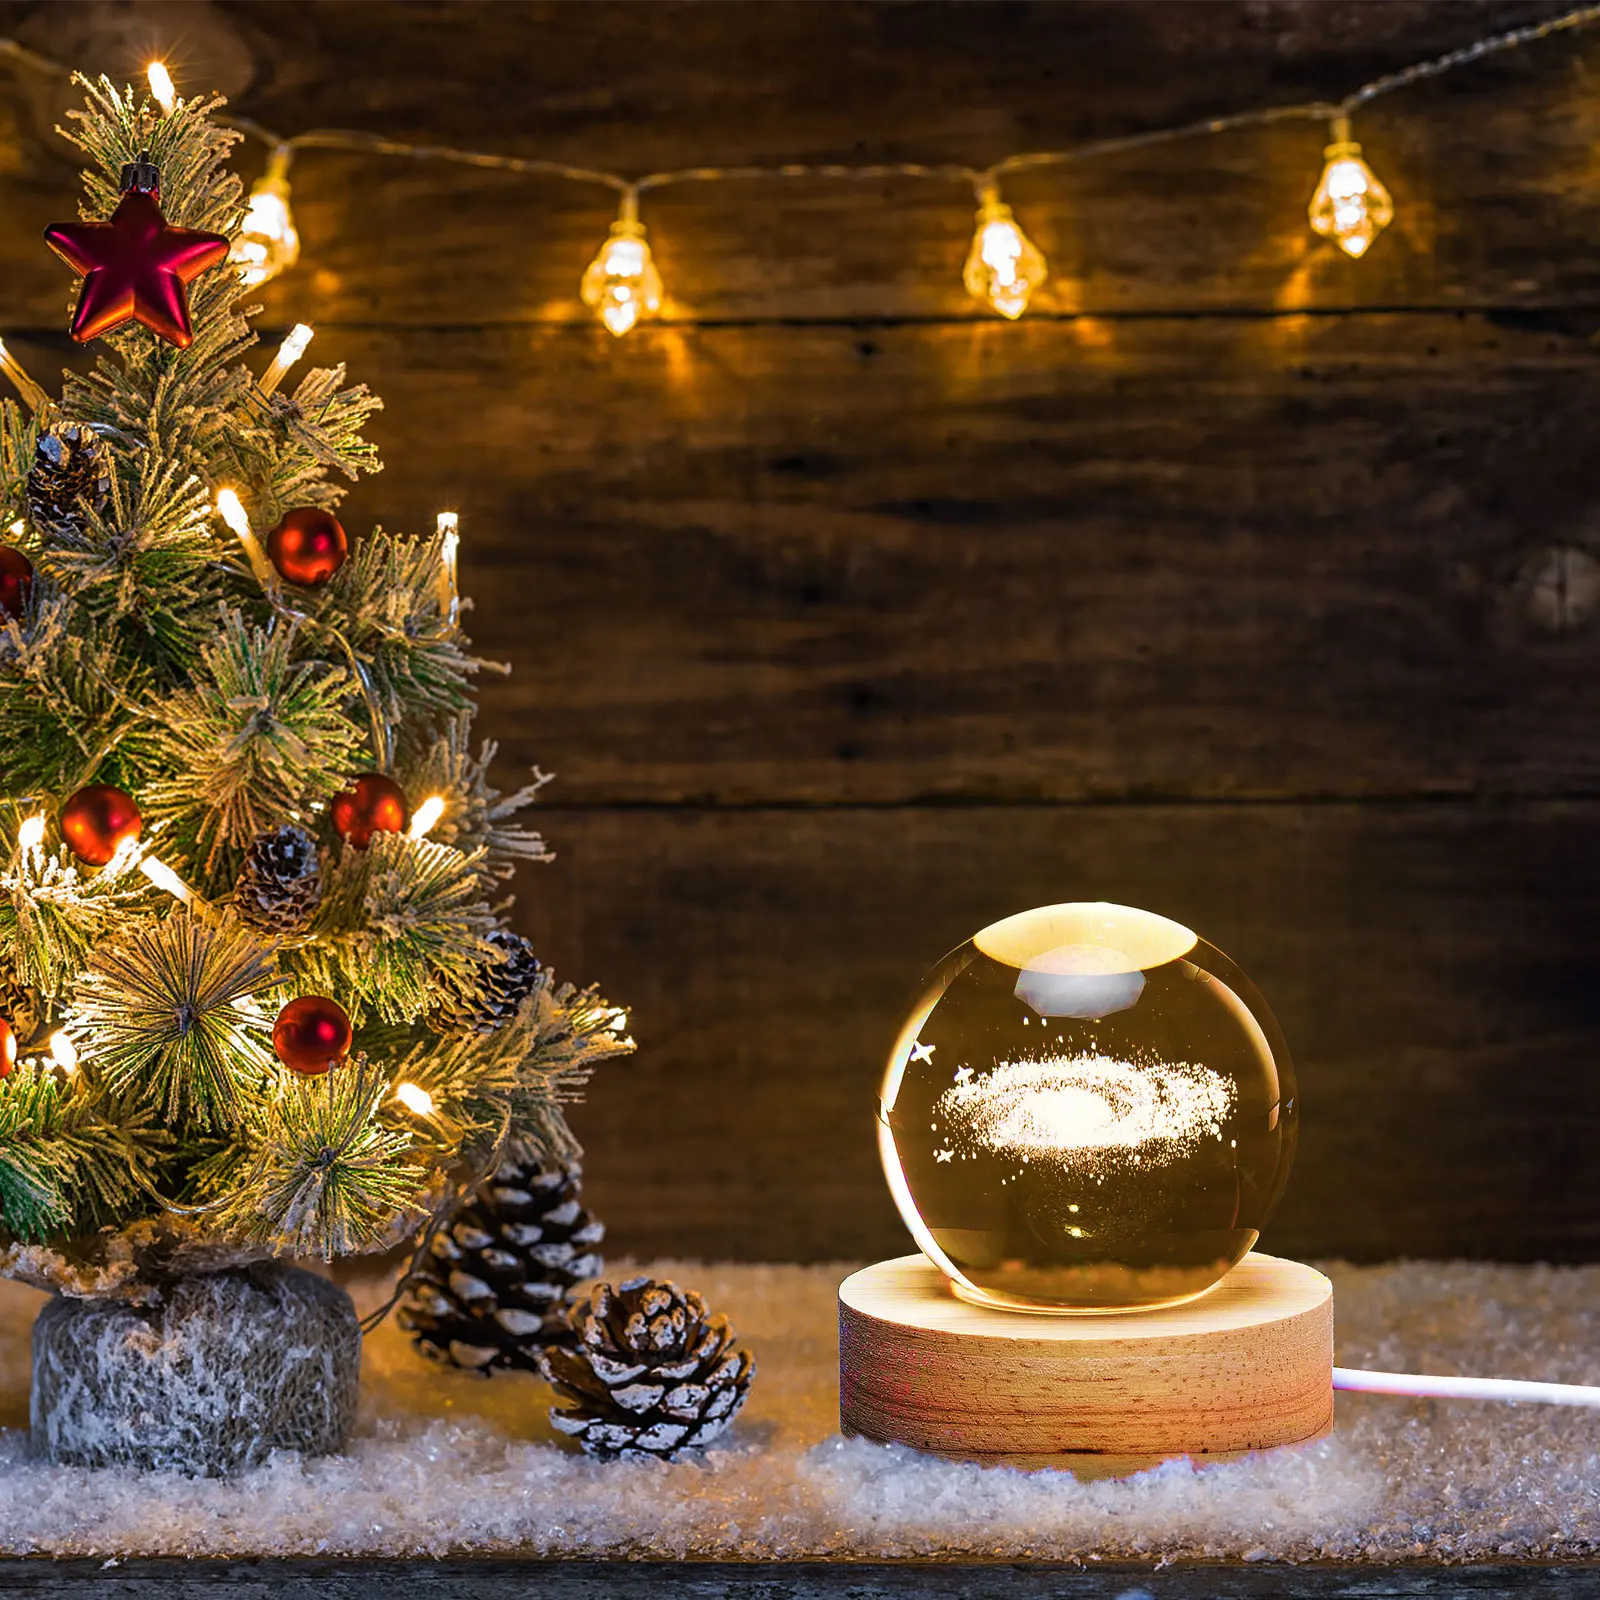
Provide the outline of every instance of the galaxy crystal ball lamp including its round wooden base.
<path id="1" fill-rule="evenodd" d="M 840 1427 L 1080 1477 L 1326 1434 L 1333 1285 L 1253 1248 L 1296 1122 L 1272 1013 L 1189 928 L 1082 902 L 974 934 L 890 1051 L 922 1254 L 840 1285 Z"/>

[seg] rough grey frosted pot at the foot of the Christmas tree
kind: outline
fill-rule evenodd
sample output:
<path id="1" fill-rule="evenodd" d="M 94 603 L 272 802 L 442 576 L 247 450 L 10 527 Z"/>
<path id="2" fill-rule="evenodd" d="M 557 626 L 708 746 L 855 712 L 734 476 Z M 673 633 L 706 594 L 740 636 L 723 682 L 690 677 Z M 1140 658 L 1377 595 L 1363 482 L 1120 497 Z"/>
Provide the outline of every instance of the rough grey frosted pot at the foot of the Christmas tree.
<path id="1" fill-rule="evenodd" d="M 171 1278 L 146 1304 L 56 1294 L 34 1323 L 34 1451 L 197 1477 L 330 1454 L 360 1370 L 350 1296 L 280 1262 Z"/>

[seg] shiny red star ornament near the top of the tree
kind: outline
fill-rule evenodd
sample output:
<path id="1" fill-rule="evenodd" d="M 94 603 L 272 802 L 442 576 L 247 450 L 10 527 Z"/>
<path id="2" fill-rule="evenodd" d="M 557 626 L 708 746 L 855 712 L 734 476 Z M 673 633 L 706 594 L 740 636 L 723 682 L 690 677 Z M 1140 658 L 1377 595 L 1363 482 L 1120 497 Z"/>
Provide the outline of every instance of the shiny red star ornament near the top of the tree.
<path id="1" fill-rule="evenodd" d="M 72 338 L 80 344 L 141 322 L 168 344 L 187 349 L 194 339 L 187 285 L 227 259 L 221 234 L 168 227 L 162 174 L 147 152 L 122 170 L 122 200 L 109 222 L 53 222 L 45 243 L 83 274 L 72 318 Z"/>

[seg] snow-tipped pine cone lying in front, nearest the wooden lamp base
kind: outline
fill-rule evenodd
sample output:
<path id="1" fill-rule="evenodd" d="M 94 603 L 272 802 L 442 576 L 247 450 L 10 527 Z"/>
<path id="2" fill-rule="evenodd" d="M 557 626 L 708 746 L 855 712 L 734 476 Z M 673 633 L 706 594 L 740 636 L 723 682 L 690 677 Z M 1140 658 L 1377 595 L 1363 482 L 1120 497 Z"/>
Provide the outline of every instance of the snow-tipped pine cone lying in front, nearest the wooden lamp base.
<path id="1" fill-rule="evenodd" d="M 723 1432 L 750 1392 L 755 1360 L 733 1349 L 728 1318 L 675 1283 L 598 1283 L 571 1323 L 576 1346 L 541 1365 L 565 1402 L 550 1422 L 592 1456 L 672 1461 Z"/>

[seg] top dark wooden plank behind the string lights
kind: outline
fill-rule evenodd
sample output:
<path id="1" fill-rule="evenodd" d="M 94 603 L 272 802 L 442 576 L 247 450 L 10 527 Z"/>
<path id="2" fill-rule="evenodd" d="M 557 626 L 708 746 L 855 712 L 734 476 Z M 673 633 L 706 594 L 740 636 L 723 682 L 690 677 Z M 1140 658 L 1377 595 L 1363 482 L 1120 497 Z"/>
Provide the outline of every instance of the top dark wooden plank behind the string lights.
<path id="1" fill-rule="evenodd" d="M 581 22 L 558 3 L 501 3 L 491 26 L 461 26 L 450 3 L 13 0 L 0 27 L 120 77 L 165 37 L 186 85 L 216 83 L 283 133 L 363 128 L 640 174 L 984 165 L 1339 98 L 1547 14 L 1534 0 L 624 0 L 586 5 Z M 1019 174 L 1006 192 L 1054 267 L 1038 314 L 1592 304 L 1597 61 L 1592 40 L 1557 42 L 1366 112 L 1357 133 L 1398 221 L 1362 262 L 1306 229 L 1326 141 L 1315 123 Z M 64 299 L 58 264 L 29 240 L 70 186 L 51 134 L 69 102 L 29 83 L 11 114 L 0 213 L 18 226 L 0 259 L 13 322 L 53 326 Z M 253 170 L 261 158 L 253 147 Z M 595 187 L 320 152 L 299 160 L 294 206 L 306 267 L 266 290 L 274 318 L 430 326 L 587 322 L 578 278 L 614 214 Z M 982 315 L 960 285 L 973 197 L 958 184 L 690 184 L 648 197 L 645 218 L 674 318 Z"/>

